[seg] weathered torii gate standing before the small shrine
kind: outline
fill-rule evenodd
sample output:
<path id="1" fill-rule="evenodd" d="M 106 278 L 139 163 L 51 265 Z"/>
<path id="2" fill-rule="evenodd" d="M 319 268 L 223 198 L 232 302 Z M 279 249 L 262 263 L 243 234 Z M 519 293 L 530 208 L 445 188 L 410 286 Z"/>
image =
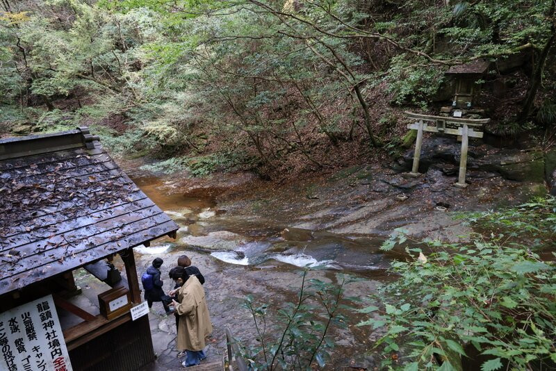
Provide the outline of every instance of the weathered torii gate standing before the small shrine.
<path id="1" fill-rule="evenodd" d="M 467 171 L 467 151 L 468 140 L 471 138 L 482 138 L 482 126 L 491 119 L 464 119 L 459 117 L 443 117 L 434 115 L 421 115 L 419 113 L 405 112 L 405 115 L 411 119 L 416 119 L 414 124 L 407 124 L 407 129 L 417 131 L 417 139 L 415 141 L 415 154 L 413 158 L 413 167 L 411 168 L 412 176 L 419 176 L 419 158 L 421 154 L 421 146 L 423 145 L 423 131 L 432 133 L 445 133 L 461 136 L 461 156 L 459 159 L 459 176 L 454 186 L 465 188 L 465 176 Z"/>

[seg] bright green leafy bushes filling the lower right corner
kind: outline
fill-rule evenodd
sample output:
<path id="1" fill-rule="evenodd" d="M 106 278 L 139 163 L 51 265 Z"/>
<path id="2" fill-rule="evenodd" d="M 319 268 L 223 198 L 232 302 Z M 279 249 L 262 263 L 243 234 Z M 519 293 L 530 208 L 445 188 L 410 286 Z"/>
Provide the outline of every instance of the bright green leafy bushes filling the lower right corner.
<path id="1" fill-rule="evenodd" d="M 429 241 L 434 252 L 426 257 L 407 249 L 420 257 L 393 263 L 400 278 L 373 297 L 382 308 L 361 311 L 374 317 L 360 325 L 384 328 L 377 345 L 402 353 L 405 370 L 460 369 L 459 357 L 472 348 L 483 357 L 481 370 L 553 368 L 556 265 L 502 232 L 532 233 L 554 249 L 555 198 L 468 218 L 483 233 L 469 243 Z M 384 247 L 404 242 L 403 235 Z M 385 365 L 394 366 L 390 358 Z"/>

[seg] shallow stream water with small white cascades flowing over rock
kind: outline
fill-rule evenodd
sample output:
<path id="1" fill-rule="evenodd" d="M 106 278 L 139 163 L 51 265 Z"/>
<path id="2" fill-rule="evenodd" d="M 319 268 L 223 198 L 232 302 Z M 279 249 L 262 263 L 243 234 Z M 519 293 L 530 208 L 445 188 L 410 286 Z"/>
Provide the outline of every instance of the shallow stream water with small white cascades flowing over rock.
<path id="1" fill-rule="evenodd" d="M 180 226 L 176 240 L 164 239 L 151 247 L 138 247 L 140 254 L 193 249 L 227 264 L 325 266 L 373 276 L 389 266 L 390 258 L 378 250 L 380 241 L 292 228 L 288 220 L 270 220 L 256 214 L 229 215 L 213 199 L 165 193 L 163 181 L 157 177 L 134 181 Z"/>

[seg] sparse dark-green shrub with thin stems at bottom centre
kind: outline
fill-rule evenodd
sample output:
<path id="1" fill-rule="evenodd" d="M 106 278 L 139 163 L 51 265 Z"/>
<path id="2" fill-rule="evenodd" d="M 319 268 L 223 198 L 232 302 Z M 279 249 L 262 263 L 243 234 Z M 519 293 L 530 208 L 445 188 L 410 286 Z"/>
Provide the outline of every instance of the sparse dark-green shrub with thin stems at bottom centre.
<path id="1" fill-rule="evenodd" d="M 258 345 L 242 346 L 241 355 L 250 362 L 250 370 L 310 370 L 325 368 L 334 342 L 328 333 L 333 327 L 345 328 L 347 318 L 338 309 L 347 298 L 343 296 L 350 279 L 338 274 L 338 285 L 319 279 L 307 279 L 309 268 L 301 273 L 297 302 L 286 302 L 273 308 L 256 304 L 247 295 L 243 306 L 250 311 L 258 334 Z M 272 312 L 270 326 L 268 318 Z M 314 365 L 313 365 L 314 364 Z"/>

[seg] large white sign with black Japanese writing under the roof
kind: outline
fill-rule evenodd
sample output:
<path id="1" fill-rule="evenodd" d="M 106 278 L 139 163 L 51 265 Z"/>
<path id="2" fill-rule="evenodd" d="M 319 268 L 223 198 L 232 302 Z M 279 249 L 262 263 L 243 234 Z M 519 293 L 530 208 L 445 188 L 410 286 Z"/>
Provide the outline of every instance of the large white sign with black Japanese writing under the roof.
<path id="1" fill-rule="evenodd" d="M 72 371 L 52 295 L 0 314 L 0 370 Z"/>

